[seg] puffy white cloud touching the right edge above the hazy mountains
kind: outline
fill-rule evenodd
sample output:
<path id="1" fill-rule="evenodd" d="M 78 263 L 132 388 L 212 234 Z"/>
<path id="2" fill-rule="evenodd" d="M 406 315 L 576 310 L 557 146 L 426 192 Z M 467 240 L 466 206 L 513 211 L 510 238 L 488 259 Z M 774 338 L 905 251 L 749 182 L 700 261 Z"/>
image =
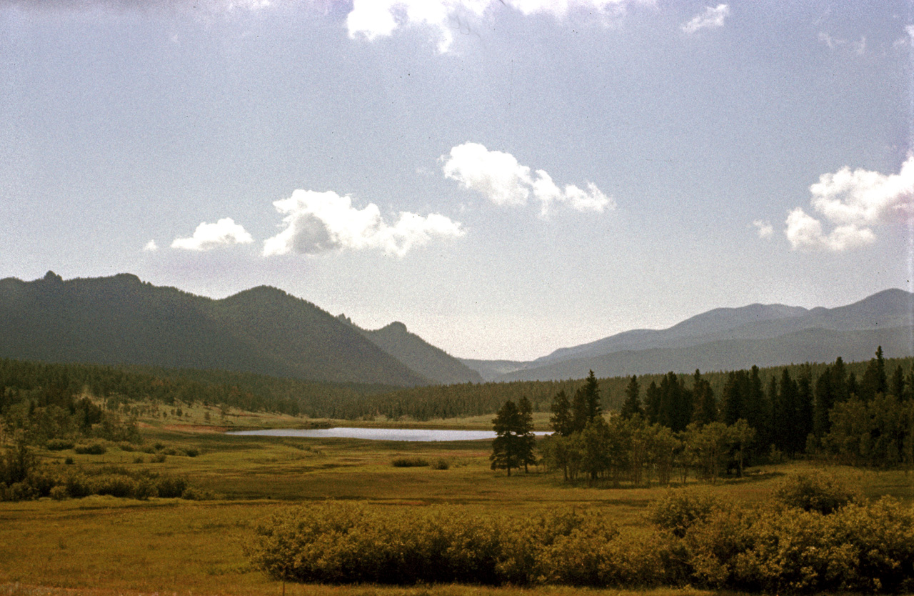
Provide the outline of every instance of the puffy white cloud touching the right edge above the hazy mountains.
<path id="1" fill-rule="evenodd" d="M 843 167 L 819 176 L 809 187 L 815 212 L 834 226 L 824 231 L 820 219 L 794 208 L 784 233 L 794 250 L 853 250 L 876 240 L 879 225 L 900 222 L 914 215 L 914 155 L 898 174 L 884 175 Z"/>

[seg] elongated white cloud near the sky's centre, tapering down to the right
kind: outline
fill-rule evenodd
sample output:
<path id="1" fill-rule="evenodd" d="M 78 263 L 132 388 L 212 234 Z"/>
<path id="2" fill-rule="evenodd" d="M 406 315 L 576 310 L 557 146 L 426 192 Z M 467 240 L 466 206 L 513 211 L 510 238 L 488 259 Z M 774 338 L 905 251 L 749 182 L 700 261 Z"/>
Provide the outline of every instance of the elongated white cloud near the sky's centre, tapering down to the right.
<path id="1" fill-rule="evenodd" d="M 532 195 L 540 202 L 544 217 L 553 204 L 566 204 L 578 211 L 603 211 L 616 206 L 593 183 L 587 183 L 587 190 L 575 185 L 559 188 L 545 170 L 537 170 L 532 176 L 530 168 L 520 165 L 514 155 L 489 151 L 482 144 L 457 145 L 441 159 L 445 177 L 484 195 L 495 205 L 526 205 Z"/>

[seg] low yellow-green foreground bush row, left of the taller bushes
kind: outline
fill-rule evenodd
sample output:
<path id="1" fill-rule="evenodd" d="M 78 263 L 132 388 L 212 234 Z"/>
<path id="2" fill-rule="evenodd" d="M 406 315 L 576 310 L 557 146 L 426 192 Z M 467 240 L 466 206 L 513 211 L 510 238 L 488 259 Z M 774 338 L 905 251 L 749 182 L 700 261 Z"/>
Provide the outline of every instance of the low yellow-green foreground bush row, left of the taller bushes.
<path id="1" fill-rule="evenodd" d="M 660 551 L 601 516 L 472 516 L 459 506 L 287 509 L 260 523 L 247 551 L 274 578 L 328 583 L 647 585 L 664 569 Z"/>

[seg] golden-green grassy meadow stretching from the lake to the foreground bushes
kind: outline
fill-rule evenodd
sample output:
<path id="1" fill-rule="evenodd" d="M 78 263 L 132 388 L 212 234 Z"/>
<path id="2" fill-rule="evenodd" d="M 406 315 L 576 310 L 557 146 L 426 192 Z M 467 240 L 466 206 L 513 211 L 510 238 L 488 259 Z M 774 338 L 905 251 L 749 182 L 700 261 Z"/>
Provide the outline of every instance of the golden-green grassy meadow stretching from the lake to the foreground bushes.
<path id="1" fill-rule="evenodd" d="M 269 420 L 268 420 L 269 421 Z M 43 452 L 50 465 L 71 457 L 86 469 L 118 465 L 186 475 L 215 500 L 137 501 L 90 496 L 65 501 L 0 503 L 0 594 L 159 593 L 277 594 L 280 582 L 252 569 L 242 547 L 252 527 L 277 507 L 324 499 L 356 499 L 375 506 L 455 504 L 473 512 L 533 515 L 558 508 L 590 509 L 632 531 L 663 487 L 569 486 L 560 474 L 533 469 L 510 478 L 489 469 L 490 442 L 402 443 L 228 436 L 213 429 L 163 425 L 144 430 L 146 443 L 197 457 L 167 456 L 152 463 L 113 447 L 103 455 Z M 436 466 L 394 467 L 401 457 Z M 55 463 L 56 462 L 56 463 Z M 792 463 L 751 470 L 701 490 L 728 501 L 760 502 L 785 475 L 813 467 Z M 914 501 L 914 477 L 903 471 L 830 472 L 868 496 Z M 48 591 L 50 590 L 50 591 Z M 287 585 L 290 594 L 579 594 L 621 593 L 570 588 L 493 589 L 475 586 L 388 588 Z M 671 593 L 646 591 L 642 594 Z M 685 593 L 675 591 L 675 593 Z M 688 593 L 699 593 L 689 591 Z"/>

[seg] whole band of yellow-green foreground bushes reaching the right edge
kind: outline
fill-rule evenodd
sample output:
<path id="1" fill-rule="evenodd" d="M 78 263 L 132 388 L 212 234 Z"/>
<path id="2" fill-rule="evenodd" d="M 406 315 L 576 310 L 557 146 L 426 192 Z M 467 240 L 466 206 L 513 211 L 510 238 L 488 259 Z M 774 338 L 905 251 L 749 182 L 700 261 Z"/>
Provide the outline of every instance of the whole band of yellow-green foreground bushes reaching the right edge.
<path id="1" fill-rule="evenodd" d="M 834 495 L 853 498 L 822 506 Z M 766 506 L 672 491 L 650 518 L 650 534 L 634 535 L 598 512 L 520 518 L 330 502 L 265 519 L 246 550 L 276 579 L 326 583 L 914 591 L 914 509 L 862 502 L 832 479 L 792 479 Z"/>

